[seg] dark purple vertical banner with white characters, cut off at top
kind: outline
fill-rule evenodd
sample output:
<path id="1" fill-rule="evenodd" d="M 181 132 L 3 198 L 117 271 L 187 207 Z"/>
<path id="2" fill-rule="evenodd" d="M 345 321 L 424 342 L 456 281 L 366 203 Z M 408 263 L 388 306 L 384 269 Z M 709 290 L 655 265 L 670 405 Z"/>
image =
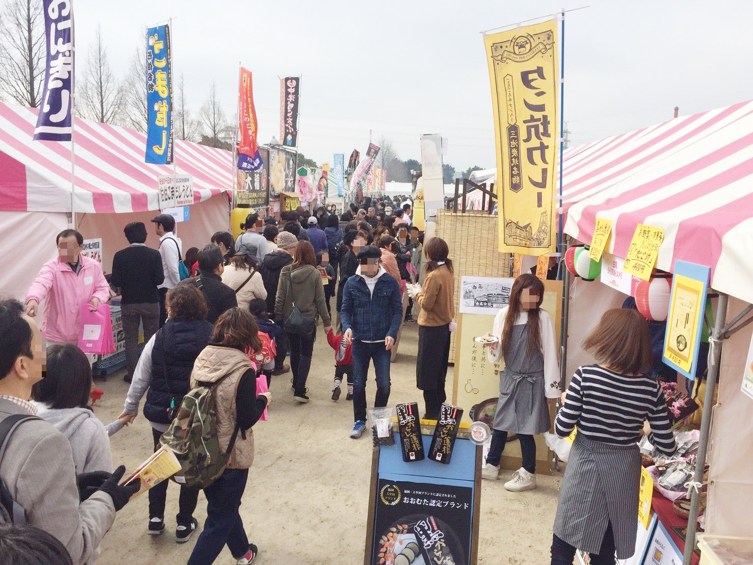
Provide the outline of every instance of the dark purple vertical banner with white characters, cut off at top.
<path id="1" fill-rule="evenodd" d="M 69 0 L 44 0 L 47 63 L 34 139 L 71 141 L 73 8 Z"/>

